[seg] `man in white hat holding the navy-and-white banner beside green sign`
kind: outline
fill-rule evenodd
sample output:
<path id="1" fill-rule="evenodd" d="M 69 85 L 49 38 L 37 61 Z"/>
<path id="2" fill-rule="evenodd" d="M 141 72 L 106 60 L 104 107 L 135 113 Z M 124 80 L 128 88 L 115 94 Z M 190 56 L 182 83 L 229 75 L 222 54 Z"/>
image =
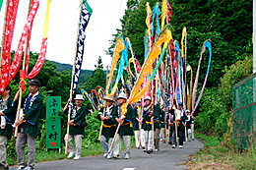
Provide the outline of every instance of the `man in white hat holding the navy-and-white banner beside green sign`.
<path id="1" fill-rule="evenodd" d="M 68 121 L 68 125 L 70 126 L 69 138 L 68 138 L 68 152 L 69 155 L 67 158 L 72 158 L 74 155 L 74 160 L 78 160 L 81 157 L 82 153 L 82 139 L 85 136 L 85 127 L 86 127 L 86 106 L 83 104 L 84 97 L 82 94 L 76 94 L 74 98 L 76 105 L 73 106 L 72 98 L 70 98 L 67 104 L 64 107 L 63 113 L 68 114 L 69 107 L 71 110 L 70 121 Z M 74 146 L 72 144 L 72 140 L 75 139 L 76 142 L 76 152 L 74 150 Z M 67 140 L 67 134 L 64 138 Z"/>

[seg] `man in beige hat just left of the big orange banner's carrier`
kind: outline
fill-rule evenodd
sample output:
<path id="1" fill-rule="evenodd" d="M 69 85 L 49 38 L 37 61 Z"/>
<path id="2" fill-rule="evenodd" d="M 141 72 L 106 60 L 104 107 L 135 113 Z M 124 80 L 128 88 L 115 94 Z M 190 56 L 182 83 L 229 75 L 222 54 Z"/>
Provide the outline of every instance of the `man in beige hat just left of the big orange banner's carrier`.
<path id="1" fill-rule="evenodd" d="M 115 124 L 116 122 L 112 121 L 112 117 L 113 117 L 113 109 L 116 107 L 114 107 L 114 98 L 111 95 L 108 95 L 104 98 L 105 102 L 106 102 L 106 107 L 102 107 L 98 114 L 97 114 L 97 119 L 99 121 L 103 121 L 102 124 L 102 132 L 101 132 L 101 136 L 100 136 L 100 144 L 102 146 L 102 149 L 104 151 L 104 157 L 110 159 L 112 157 L 113 154 L 113 149 L 111 150 L 111 152 L 108 154 L 108 149 L 111 145 L 111 142 L 113 140 L 114 137 L 114 133 L 115 133 Z M 105 110 L 104 110 L 105 109 Z"/>

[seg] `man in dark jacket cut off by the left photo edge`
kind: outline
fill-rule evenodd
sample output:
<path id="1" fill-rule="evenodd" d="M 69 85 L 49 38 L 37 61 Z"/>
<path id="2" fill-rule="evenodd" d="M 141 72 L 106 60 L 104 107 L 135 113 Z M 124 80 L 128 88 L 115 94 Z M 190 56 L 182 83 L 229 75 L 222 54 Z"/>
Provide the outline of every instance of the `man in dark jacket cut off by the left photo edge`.
<path id="1" fill-rule="evenodd" d="M 4 93 L 2 94 L 2 99 L 0 100 L 0 117 L 1 117 L 1 127 L 0 127 L 0 169 L 8 169 L 8 164 L 6 162 L 6 145 L 7 140 L 11 139 L 13 134 L 12 124 L 15 121 L 16 113 L 13 111 L 12 103 L 13 98 L 11 97 L 11 87 L 7 86 Z"/>

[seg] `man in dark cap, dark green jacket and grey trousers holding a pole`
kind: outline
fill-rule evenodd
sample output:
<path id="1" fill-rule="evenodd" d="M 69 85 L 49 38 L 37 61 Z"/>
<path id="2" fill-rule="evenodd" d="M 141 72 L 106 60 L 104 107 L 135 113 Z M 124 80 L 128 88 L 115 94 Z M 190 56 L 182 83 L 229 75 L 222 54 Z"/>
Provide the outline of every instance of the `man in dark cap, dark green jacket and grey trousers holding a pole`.
<path id="1" fill-rule="evenodd" d="M 42 97 L 38 90 L 40 82 L 33 79 L 30 83 L 30 94 L 22 98 L 22 107 L 24 114 L 15 123 L 19 127 L 19 133 L 16 141 L 16 152 L 19 169 L 34 169 L 35 142 L 38 135 L 38 118 L 42 110 Z M 18 98 L 20 91 L 14 97 L 14 109 L 18 107 Z M 25 157 L 25 145 L 28 143 L 28 163 Z M 26 167 L 27 166 L 27 167 Z"/>

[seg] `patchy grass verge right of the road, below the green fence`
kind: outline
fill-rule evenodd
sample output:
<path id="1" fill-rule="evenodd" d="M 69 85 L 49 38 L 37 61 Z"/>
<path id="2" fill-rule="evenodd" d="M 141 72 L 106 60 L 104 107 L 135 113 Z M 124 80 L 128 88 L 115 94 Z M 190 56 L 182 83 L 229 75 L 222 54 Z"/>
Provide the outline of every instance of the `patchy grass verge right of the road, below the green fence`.
<path id="1" fill-rule="evenodd" d="M 196 134 L 205 142 L 205 149 L 197 155 L 191 156 L 188 161 L 189 169 L 255 169 L 256 145 L 243 152 L 234 147 L 226 147 L 217 137 Z"/>

